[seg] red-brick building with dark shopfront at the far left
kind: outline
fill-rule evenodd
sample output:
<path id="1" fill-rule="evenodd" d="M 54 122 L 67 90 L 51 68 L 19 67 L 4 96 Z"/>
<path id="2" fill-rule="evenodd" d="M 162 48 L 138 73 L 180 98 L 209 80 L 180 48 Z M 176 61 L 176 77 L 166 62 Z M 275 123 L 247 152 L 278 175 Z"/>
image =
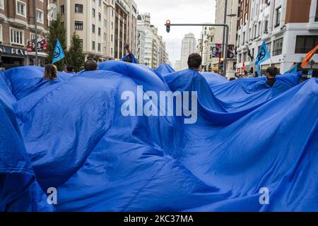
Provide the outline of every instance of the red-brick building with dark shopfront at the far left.
<path id="1" fill-rule="evenodd" d="M 33 0 L 0 0 L 0 57 L 1 68 L 35 64 L 35 47 L 39 50 L 39 65 L 45 64 L 45 34 L 48 0 L 38 0 L 34 12 Z M 35 21 L 37 37 L 35 37 Z M 40 43 L 45 46 L 41 47 Z M 29 47 L 33 43 L 34 47 Z M 29 49 L 27 51 L 27 49 Z"/>

